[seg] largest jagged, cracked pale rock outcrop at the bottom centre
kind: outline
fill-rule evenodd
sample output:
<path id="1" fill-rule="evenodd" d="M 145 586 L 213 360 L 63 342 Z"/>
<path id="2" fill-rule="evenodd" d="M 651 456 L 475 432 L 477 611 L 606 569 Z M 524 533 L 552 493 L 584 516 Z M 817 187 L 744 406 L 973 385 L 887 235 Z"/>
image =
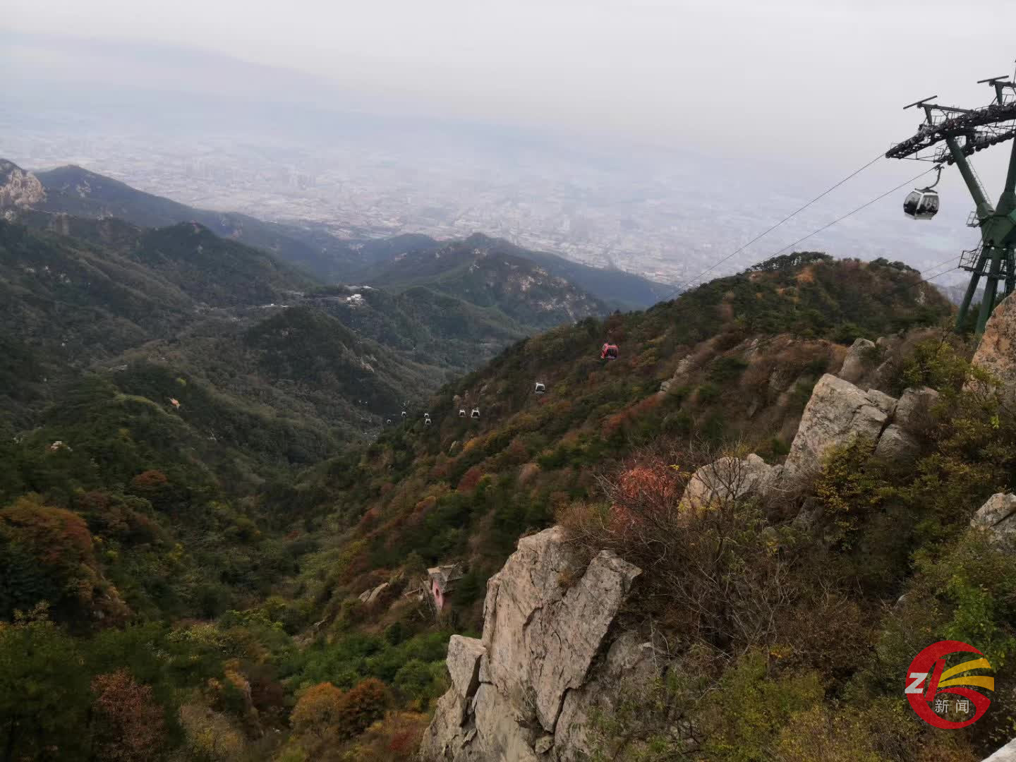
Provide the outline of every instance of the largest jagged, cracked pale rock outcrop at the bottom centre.
<path id="1" fill-rule="evenodd" d="M 579 718 L 647 658 L 612 626 L 640 570 L 604 551 L 583 569 L 554 527 L 523 537 L 488 582 L 482 640 L 449 643 L 452 688 L 424 735 L 425 760 L 573 760 Z M 475 679 L 473 679 L 475 676 Z"/>

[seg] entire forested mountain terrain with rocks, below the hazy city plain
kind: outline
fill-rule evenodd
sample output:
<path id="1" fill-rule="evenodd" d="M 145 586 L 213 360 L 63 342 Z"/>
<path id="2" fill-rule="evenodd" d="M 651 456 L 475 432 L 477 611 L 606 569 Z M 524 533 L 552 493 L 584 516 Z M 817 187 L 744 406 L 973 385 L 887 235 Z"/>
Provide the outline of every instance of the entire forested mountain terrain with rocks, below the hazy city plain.
<path id="1" fill-rule="evenodd" d="M 1016 679 L 1016 556 L 969 526 L 1016 499 L 1016 417 L 912 268 L 795 252 L 621 312 L 655 285 L 484 236 L 315 250 L 336 279 L 270 224 L 0 173 L 10 758 L 973 762 L 1009 732 L 1004 691 L 967 734 L 901 703 L 939 639 Z"/>

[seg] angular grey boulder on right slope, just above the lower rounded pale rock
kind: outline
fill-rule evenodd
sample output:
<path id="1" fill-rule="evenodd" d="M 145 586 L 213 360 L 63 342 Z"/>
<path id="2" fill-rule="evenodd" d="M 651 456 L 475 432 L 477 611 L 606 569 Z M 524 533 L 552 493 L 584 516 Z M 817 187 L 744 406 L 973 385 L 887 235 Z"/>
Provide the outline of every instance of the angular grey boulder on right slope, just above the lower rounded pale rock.
<path id="1" fill-rule="evenodd" d="M 855 437 L 874 444 L 889 420 L 886 397 L 882 392 L 864 392 L 849 381 L 825 374 L 815 385 L 801 417 L 781 478 L 797 481 L 814 477 L 829 450 Z"/>

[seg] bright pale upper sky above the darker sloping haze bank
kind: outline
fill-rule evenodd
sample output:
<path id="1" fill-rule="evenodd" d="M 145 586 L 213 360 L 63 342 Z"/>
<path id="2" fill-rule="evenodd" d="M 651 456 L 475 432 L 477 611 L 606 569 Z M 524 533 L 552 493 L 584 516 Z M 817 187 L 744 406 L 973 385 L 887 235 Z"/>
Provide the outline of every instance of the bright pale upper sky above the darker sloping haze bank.
<path id="1" fill-rule="evenodd" d="M 0 28 L 301 70 L 366 108 L 806 158 L 874 155 L 924 96 L 987 102 L 973 81 L 1016 58 L 1013 0 L 5 0 Z M 144 70 L 128 58 L 118 76 Z"/>

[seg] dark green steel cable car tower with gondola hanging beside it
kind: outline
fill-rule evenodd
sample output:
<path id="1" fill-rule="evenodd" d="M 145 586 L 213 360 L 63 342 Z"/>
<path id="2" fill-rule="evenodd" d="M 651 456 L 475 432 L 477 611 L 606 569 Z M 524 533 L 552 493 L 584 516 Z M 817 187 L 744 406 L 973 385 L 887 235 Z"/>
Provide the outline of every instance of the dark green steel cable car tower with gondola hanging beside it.
<path id="1" fill-rule="evenodd" d="M 967 225 L 980 229 L 980 245 L 964 251 L 960 257 L 959 266 L 970 272 L 970 283 L 960 304 L 956 328 L 959 330 L 965 322 L 977 284 L 983 277 L 985 296 L 976 322 L 976 333 L 980 334 L 992 310 L 1016 287 L 1016 140 L 1009 156 L 1005 189 L 997 205 L 993 206 L 989 200 L 969 156 L 1016 137 L 1016 82 L 1002 76 L 981 79 L 977 83 L 987 83 L 995 89 L 995 100 L 988 106 L 977 109 L 939 106 L 931 103 L 938 96 L 932 96 L 903 107 L 923 109 L 926 121 L 913 137 L 892 146 L 886 157 L 933 162 L 940 172 L 946 165 L 956 165 L 963 176 L 974 203 Z M 920 196 L 922 204 L 926 199 L 934 199 L 920 207 L 926 210 L 924 213 L 911 213 L 914 194 Z M 908 196 L 904 211 L 915 219 L 931 218 L 938 211 L 938 194 L 931 187 L 915 190 Z M 1001 295 L 1000 282 L 1003 283 Z"/>

